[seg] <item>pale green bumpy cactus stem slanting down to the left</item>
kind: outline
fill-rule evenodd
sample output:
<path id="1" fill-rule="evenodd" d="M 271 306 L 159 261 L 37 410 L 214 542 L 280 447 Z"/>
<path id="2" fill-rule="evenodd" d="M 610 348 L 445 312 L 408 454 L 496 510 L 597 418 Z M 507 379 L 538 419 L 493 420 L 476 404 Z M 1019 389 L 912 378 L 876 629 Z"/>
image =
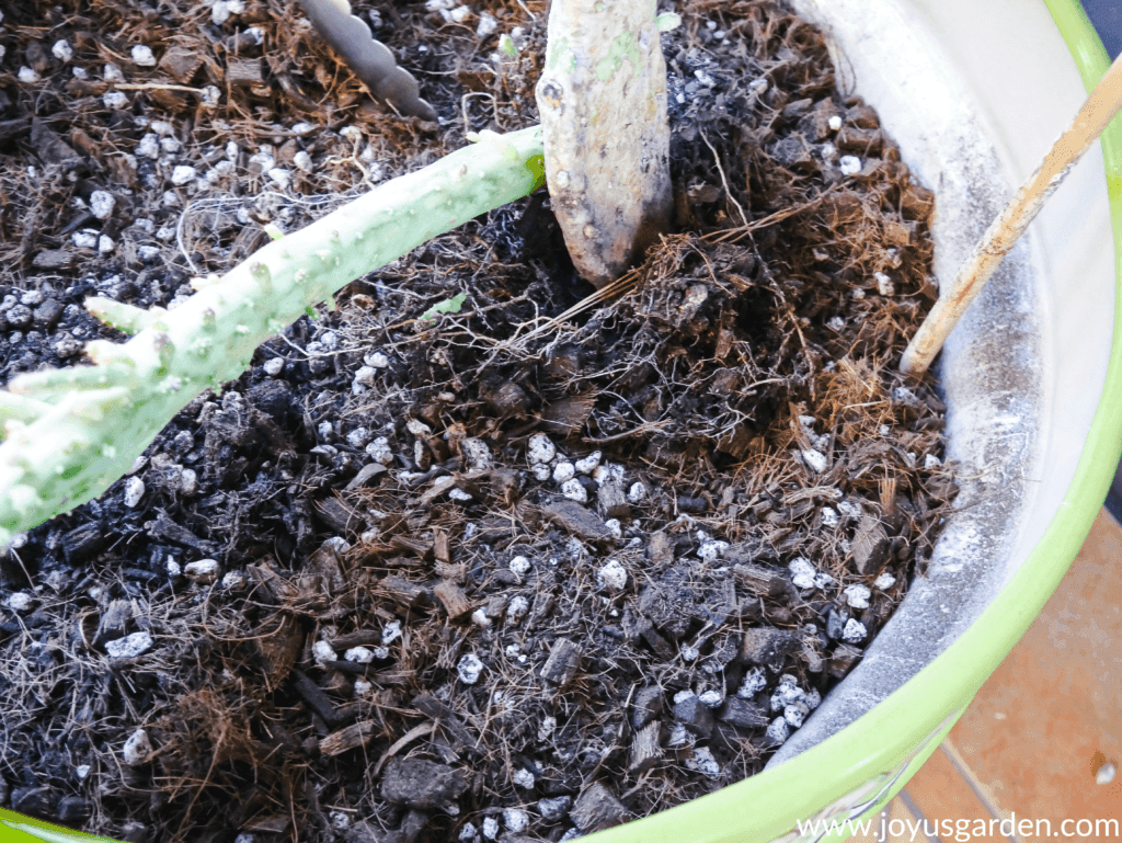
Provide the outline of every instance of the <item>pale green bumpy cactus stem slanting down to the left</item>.
<path id="1" fill-rule="evenodd" d="M 180 410 L 238 377 L 309 306 L 544 184 L 539 127 L 478 139 L 268 244 L 174 310 L 86 300 L 135 336 L 88 343 L 94 366 L 19 375 L 0 391 L 0 544 L 109 488 Z"/>

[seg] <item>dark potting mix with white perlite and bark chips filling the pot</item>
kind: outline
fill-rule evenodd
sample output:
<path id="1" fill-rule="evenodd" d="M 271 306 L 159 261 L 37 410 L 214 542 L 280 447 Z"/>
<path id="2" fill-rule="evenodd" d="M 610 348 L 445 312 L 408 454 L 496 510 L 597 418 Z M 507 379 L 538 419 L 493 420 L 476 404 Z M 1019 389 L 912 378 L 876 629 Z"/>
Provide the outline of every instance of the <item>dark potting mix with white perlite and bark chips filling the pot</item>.
<path id="1" fill-rule="evenodd" d="M 292 4 L 4 7 L 0 374 L 110 337 L 90 293 L 174 306 L 265 222 L 534 121 L 545 3 L 355 11 L 439 125 L 375 111 Z M 128 841 L 571 839 L 758 771 L 861 659 L 954 494 L 894 370 L 932 198 L 781 3 L 682 12 L 678 233 L 642 266 L 589 297 L 543 194 L 475 220 L 0 559 L 0 803 Z"/>

